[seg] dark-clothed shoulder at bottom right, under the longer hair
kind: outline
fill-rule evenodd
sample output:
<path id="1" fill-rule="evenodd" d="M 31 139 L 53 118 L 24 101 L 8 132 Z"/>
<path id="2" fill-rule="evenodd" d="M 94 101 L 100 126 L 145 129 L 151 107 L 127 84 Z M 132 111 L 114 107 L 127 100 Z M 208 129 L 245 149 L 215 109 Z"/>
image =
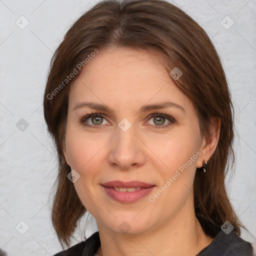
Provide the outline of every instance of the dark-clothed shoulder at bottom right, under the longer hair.
<path id="1" fill-rule="evenodd" d="M 252 246 L 234 231 L 226 234 L 221 230 L 211 243 L 197 255 L 252 256 Z"/>

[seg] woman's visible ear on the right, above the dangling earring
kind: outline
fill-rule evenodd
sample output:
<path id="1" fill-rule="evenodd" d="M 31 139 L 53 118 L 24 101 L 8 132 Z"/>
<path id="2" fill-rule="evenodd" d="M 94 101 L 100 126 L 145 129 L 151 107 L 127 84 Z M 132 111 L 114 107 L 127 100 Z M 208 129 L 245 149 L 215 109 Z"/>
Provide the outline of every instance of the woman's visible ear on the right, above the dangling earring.
<path id="1" fill-rule="evenodd" d="M 219 117 L 211 117 L 210 119 L 210 127 L 209 134 L 206 137 L 203 137 L 201 147 L 199 151 L 201 152 L 198 157 L 196 167 L 200 168 L 203 166 L 203 160 L 208 161 L 211 155 L 214 153 L 218 139 L 219 139 L 219 131 L 220 131 L 220 118 Z"/>

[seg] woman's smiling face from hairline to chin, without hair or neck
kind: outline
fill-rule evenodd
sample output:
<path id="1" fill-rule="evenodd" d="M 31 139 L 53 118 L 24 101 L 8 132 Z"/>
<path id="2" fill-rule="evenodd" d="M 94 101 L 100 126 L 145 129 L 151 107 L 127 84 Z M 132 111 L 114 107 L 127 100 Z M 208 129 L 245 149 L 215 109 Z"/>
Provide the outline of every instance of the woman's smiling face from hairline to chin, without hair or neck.
<path id="1" fill-rule="evenodd" d="M 99 51 L 71 85 L 64 155 L 99 228 L 139 233 L 193 213 L 202 143 L 191 101 L 146 51 Z"/>

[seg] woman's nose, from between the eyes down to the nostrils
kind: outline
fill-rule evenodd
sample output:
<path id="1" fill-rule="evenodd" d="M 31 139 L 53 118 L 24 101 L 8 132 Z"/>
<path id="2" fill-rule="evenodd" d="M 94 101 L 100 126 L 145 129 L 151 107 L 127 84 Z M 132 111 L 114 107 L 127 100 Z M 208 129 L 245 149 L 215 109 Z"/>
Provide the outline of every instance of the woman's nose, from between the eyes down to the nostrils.
<path id="1" fill-rule="evenodd" d="M 146 157 L 145 146 L 140 139 L 134 126 L 131 125 L 126 131 L 117 126 L 110 144 L 109 164 L 118 166 L 121 170 L 142 166 Z"/>

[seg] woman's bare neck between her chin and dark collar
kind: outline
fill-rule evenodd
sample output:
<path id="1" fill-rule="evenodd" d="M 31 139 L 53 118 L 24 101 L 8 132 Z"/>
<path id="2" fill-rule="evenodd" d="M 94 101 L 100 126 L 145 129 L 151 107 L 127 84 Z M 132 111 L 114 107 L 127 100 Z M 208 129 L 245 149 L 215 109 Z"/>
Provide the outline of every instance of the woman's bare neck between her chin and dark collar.
<path id="1" fill-rule="evenodd" d="M 194 212 L 194 211 L 192 211 Z M 180 212 L 179 212 L 180 213 Z M 185 213 L 185 212 L 184 212 Z M 212 240 L 205 235 L 195 214 L 180 214 L 153 230 L 119 234 L 98 224 L 101 246 L 98 256 L 110 255 L 196 255 Z"/>

